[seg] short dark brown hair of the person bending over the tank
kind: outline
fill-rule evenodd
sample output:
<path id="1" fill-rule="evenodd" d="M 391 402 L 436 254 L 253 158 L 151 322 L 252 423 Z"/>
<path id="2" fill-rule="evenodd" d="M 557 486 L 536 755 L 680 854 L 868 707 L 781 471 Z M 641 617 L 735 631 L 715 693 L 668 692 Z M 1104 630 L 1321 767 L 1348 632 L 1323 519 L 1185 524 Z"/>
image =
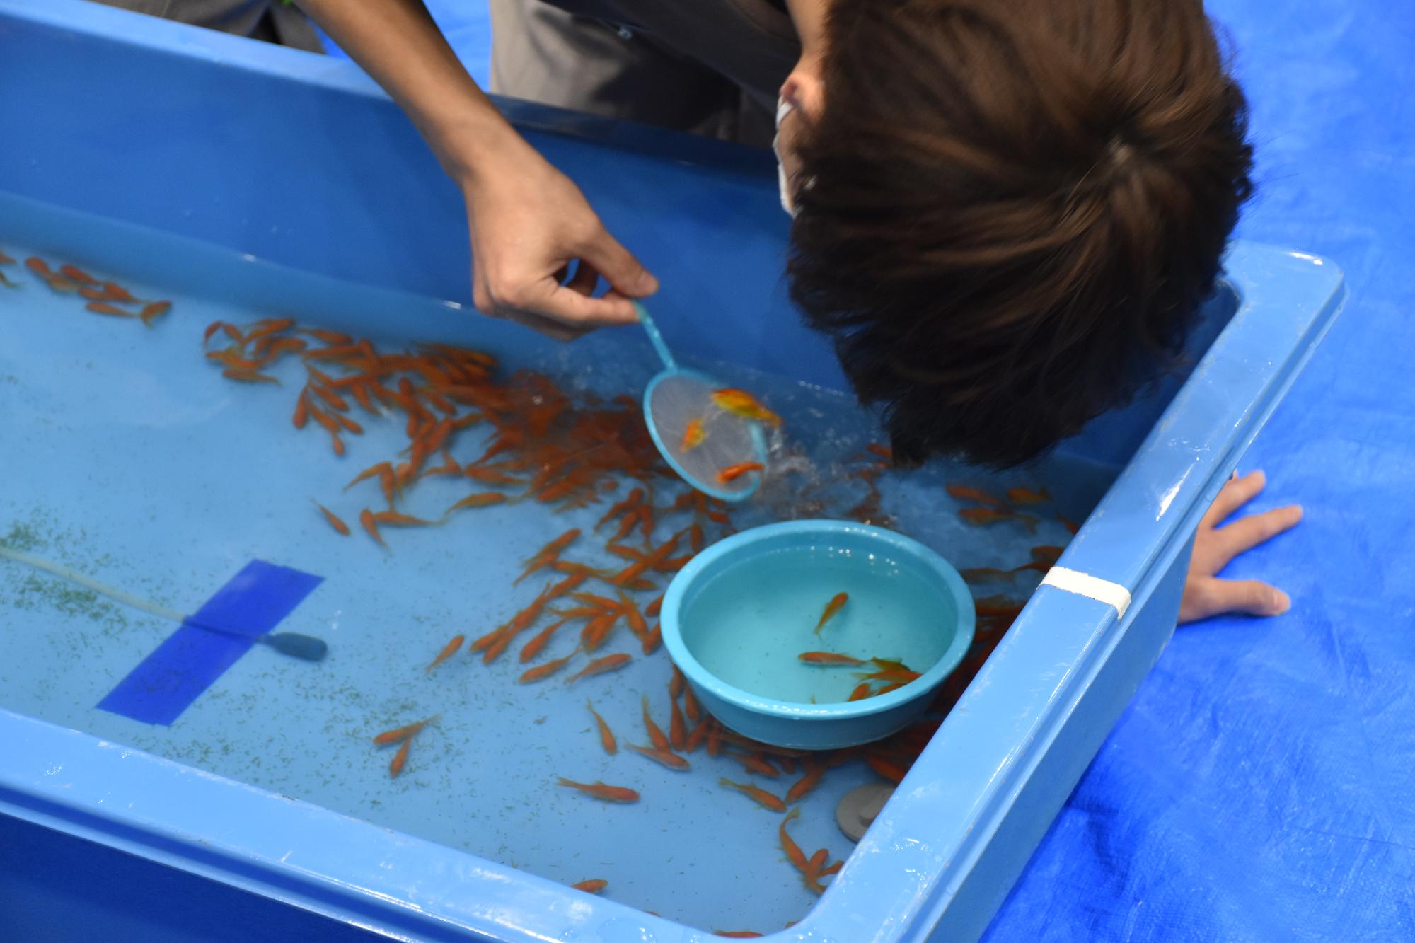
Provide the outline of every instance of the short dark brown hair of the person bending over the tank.
<path id="1" fill-rule="evenodd" d="M 1023 462 L 1177 355 L 1248 197 L 1193 0 L 835 0 L 792 296 L 896 456 Z"/>

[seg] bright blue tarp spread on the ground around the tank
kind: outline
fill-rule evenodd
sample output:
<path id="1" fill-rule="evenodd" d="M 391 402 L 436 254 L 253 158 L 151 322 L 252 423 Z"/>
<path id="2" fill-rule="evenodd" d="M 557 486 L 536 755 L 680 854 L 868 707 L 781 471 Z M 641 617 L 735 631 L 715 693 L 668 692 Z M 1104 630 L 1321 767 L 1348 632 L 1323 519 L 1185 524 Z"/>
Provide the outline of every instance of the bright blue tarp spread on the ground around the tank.
<path id="1" fill-rule="evenodd" d="M 485 78 L 485 6 L 429 3 Z M 1415 7 L 1218 0 L 1252 105 L 1244 238 L 1351 302 L 1244 462 L 1296 531 L 1227 575 L 1272 620 L 1180 629 L 988 933 L 1415 939 Z"/>

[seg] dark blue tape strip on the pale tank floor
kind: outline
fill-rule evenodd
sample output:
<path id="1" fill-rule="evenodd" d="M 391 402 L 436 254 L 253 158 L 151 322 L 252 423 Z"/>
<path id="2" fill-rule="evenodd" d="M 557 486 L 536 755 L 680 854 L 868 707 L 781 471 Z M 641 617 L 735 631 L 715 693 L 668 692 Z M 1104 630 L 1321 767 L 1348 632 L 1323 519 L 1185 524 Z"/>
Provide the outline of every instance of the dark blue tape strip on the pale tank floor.
<path id="1" fill-rule="evenodd" d="M 289 566 L 250 561 L 129 671 L 99 701 L 99 709 L 143 724 L 171 724 L 250 650 L 258 636 L 275 629 L 323 581 Z M 201 629 L 202 624 L 224 631 Z"/>

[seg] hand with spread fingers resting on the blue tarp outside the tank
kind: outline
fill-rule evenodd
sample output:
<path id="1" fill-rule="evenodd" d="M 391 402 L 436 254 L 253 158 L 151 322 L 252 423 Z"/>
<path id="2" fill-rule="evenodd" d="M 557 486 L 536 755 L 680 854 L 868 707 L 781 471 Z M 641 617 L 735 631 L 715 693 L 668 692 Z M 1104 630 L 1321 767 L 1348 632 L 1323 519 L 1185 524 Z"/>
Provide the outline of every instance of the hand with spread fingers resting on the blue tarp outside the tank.
<path id="1" fill-rule="evenodd" d="M 1179 603 L 1182 623 L 1228 612 L 1281 616 L 1292 606 L 1288 593 L 1268 583 L 1215 576 L 1238 554 L 1290 530 L 1302 520 L 1302 508 L 1292 504 L 1218 527 L 1224 518 L 1257 497 L 1266 483 L 1262 471 L 1249 471 L 1228 481 L 1199 522 L 1194 555 L 1189 561 L 1189 579 L 1184 581 L 1184 599 Z"/>

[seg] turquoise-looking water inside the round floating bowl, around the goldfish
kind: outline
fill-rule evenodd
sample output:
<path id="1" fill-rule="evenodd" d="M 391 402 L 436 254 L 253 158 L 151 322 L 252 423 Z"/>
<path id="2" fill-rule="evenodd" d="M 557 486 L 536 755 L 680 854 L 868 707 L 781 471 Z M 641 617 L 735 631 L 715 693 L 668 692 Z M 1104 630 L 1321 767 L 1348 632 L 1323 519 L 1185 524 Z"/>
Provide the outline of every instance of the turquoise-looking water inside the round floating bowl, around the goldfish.
<path id="1" fill-rule="evenodd" d="M 849 602 L 815 633 L 836 593 Z M 880 554 L 849 547 L 791 547 L 724 565 L 682 613 L 683 643 L 724 682 L 794 704 L 846 701 L 857 667 L 801 661 L 804 651 L 890 658 L 928 671 L 957 630 L 937 576 Z"/>

